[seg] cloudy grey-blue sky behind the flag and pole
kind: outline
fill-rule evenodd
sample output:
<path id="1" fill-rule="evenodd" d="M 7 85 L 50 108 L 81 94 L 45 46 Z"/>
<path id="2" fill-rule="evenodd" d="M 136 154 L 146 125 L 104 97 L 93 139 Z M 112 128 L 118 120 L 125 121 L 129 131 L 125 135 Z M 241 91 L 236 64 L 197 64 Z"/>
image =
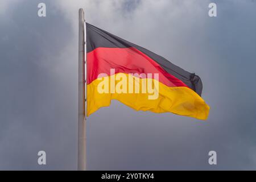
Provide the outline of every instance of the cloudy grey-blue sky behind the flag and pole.
<path id="1" fill-rule="evenodd" d="M 79 8 L 86 22 L 199 75 L 211 107 L 199 121 L 112 101 L 87 119 L 87 169 L 256 169 L 256 1 L 0 3 L 0 170 L 77 169 Z"/>

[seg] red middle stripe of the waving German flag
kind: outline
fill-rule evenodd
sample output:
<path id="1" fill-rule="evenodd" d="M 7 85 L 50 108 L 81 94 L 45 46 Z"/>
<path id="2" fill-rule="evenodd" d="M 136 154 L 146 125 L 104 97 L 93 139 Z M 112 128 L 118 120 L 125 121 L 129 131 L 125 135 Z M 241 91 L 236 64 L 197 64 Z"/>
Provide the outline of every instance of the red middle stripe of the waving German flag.
<path id="1" fill-rule="evenodd" d="M 181 80 L 167 73 L 158 63 L 134 47 L 130 48 L 96 48 L 87 53 L 87 84 L 96 80 L 98 75 L 106 73 L 110 76 L 110 69 L 116 73 L 154 73 L 159 74 L 159 81 L 167 86 L 185 86 Z"/>

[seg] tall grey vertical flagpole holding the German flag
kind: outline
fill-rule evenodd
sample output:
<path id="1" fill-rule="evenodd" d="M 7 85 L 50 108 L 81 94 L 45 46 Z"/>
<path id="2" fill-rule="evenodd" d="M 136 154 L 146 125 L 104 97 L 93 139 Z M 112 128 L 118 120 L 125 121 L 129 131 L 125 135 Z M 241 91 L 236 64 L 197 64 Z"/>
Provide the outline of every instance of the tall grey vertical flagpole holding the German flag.
<path id="1" fill-rule="evenodd" d="M 86 118 L 85 118 L 85 20 L 79 9 L 79 113 L 78 113 L 78 164 L 79 171 L 86 170 Z"/>

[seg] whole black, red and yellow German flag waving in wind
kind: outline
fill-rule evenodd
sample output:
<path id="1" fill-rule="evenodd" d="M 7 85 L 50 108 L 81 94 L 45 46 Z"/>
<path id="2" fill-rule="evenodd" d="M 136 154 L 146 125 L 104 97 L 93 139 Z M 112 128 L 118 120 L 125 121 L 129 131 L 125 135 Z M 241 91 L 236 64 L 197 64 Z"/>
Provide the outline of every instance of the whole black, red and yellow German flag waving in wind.
<path id="1" fill-rule="evenodd" d="M 118 100 L 135 110 L 207 119 L 200 77 L 164 57 L 89 23 L 86 57 L 88 116 Z"/>

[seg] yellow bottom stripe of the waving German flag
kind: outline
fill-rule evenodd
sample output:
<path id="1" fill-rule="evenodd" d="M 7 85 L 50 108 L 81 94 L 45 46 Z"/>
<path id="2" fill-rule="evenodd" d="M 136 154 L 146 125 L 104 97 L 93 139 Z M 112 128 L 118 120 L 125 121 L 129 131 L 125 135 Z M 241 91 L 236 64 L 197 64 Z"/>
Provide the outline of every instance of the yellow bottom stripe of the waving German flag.
<path id="1" fill-rule="evenodd" d="M 122 74 L 122 76 L 125 75 L 127 80 L 129 80 L 129 77 L 133 77 L 125 73 L 118 73 L 114 76 L 118 76 L 120 74 Z M 102 78 L 102 80 L 109 80 L 109 90 L 111 87 L 110 77 L 113 76 Z M 169 87 L 162 84 L 162 82 L 151 78 L 133 78 L 135 82 L 137 80 L 137 84 L 139 79 L 140 87 L 142 87 L 143 81 L 152 81 L 157 83 L 159 85 L 158 98 L 155 100 L 149 100 L 148 96 L 152 95 L 150 93 L 99 93 L 98 85 L 102 84 L 102 80 L 96 79 L 87 85 L 88 116 L 100 109 L 100 107 L 109 106 L 111 100 L 118 100 L 135 110 L 152 111 L 154 113 L 171 112 L 197 119 L 207 119 L 210 107 L 205 103 L 203 98 L 193 90 L 187 87 Z M 118 85 L 119 82 L 120 80 L 115 80 L 114 84 Z M 127 88 L 131 86 L 134 87 L 134 84 L 127 81 Z"/>

